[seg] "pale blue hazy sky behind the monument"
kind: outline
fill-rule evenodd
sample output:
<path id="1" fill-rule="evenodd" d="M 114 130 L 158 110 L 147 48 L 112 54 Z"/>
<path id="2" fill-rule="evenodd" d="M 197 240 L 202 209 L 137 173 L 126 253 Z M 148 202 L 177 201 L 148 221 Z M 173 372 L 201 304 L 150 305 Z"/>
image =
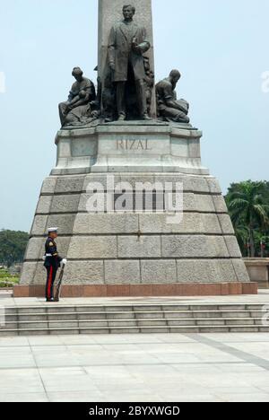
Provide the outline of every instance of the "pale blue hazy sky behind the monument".
<path id="1" fill-rule="evenodd" d="M 95 81 L 97 4 L 0 0 L 0 229 L 30 230 L 72 68 Z M 268 0 L 152 5 L 156 79 L 175 67 L 183 74 L 178 95 L 204 131 L 204 165 L 224 192 L 233 181 L 269 179 Z"/>

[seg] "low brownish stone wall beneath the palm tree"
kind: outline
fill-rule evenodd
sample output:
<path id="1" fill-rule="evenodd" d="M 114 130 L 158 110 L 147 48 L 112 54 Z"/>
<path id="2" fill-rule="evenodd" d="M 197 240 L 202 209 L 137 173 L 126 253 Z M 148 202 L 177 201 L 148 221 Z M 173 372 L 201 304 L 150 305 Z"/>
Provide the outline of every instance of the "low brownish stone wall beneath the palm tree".
<path id="1" fill-rule="evenodd" d="M 244 258 L 252 282 L 259 288 L 269 289 L 269 258 Z"/>

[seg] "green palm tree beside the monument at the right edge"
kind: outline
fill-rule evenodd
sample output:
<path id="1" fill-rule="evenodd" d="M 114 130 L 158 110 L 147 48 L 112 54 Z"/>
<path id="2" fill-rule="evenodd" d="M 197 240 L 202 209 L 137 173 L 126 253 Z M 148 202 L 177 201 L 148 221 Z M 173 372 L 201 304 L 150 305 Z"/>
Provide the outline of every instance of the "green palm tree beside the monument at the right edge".
<path id="1" fill-rule="evenodd" d="M 255 257 L 257 233 L 265 235 L 269 229 L 269 183 L 248 180 L 232 184 L 226 202 L 241 249 L 248 237 L 250 255 Z"/>

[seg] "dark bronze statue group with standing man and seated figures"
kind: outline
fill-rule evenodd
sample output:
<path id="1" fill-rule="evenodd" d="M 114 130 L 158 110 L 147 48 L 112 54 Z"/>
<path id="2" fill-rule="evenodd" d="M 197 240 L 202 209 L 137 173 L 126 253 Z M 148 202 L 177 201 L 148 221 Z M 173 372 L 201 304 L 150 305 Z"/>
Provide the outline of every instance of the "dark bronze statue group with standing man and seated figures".
<path id="1" fill-rule="evenodd" d="M 97 92 L 81 68 L 74 68 L 76 81 L 68 100 L 59 104 L 62 127 L 152 119 L 154 73 L 146 55 L 151 43 L 146 29 L 134 22 L 134 13 L 134 6 L 124 6 L 124 20 L 111 28 L 107 65 L 98 79 Z M 172 70 L 168 78 L 156 84 L 158 119 L 189 123 L 187 101 L 177 100 L 180 77 L 178 70 Z"/>

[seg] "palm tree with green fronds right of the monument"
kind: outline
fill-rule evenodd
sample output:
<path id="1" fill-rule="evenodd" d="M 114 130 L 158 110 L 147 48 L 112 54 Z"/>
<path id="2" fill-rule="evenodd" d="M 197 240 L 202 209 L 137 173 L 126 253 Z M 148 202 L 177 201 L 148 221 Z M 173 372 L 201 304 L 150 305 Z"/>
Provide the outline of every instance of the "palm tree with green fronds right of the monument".
<path id="1" fill-rule="evenodd" d="M 234 186 L 235 187 L 235 186 Z M 269 205 L 265 202 L 265 184 L 246 181 L 237 184 L 227 196 L 227 206 L 235 229 L 247 227 L 251 257 L 255 257 L 255 231 L 269 225 Z"/>

